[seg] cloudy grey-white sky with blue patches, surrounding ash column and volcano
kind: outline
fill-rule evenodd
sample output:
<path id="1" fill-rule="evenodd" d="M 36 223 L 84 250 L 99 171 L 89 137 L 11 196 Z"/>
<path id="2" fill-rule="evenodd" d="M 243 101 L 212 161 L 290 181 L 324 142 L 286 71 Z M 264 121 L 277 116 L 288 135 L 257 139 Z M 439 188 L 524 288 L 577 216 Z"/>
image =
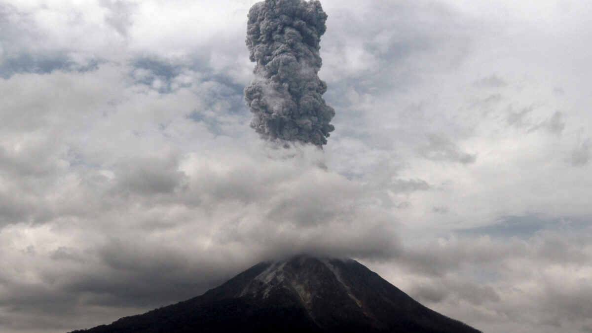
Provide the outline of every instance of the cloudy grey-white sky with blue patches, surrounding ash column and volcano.
<path id="1" fill-rule="evenodd" d="M 0 332 L 300 252 L 487 333 L 592 332 L 592 2 L 321 1 L 322 150 L 249 127 L 255 2 L 0 1 Z"/>

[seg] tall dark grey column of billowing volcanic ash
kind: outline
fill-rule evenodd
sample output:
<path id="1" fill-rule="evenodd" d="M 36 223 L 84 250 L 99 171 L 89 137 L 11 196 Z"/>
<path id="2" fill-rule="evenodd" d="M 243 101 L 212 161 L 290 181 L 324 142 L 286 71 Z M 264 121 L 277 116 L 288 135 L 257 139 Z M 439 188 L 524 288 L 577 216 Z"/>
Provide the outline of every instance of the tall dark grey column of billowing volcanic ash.
<path id="1" fill-rule="evenodd" d="M 256 78 L 244 89 L 251 127 L 268 140 L 322 146 L 334 130 L 335 111 L 318 78 L 327 14 L 313 0 L 265 0 L 249 11 L 247 47 Z"/>

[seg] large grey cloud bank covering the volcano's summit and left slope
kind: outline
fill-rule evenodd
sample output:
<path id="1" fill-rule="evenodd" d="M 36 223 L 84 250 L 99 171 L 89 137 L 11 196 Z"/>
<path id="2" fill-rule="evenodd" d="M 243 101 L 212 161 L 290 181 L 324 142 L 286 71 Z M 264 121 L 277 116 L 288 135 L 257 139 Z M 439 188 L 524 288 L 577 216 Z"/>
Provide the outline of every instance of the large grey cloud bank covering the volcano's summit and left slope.
<path id="1" fill-rule="evenodd" d="M 60 191 L 31 202 L 48 211 L 44 220 L 8 223 L 0 233 L 11 239 L 0 255 L 14 259 L 5 262 L 0 299 L 21 307 L 2 316 L 26 308 L 66 329 L 50 319 L 52 302 L 62 319 L 81 310 L 102 318 L 97 309 L 106 306 L 131 314 L 198 294 L 266 258 L 399 251 L 397 222 L 375 203 L 375 188 L 318 167 L 322 159 L 311 147 L 224 148 L 121 159 L 112 171 L 63 170 Z M 30 302 L 34 294 L 44 302 Z"/>

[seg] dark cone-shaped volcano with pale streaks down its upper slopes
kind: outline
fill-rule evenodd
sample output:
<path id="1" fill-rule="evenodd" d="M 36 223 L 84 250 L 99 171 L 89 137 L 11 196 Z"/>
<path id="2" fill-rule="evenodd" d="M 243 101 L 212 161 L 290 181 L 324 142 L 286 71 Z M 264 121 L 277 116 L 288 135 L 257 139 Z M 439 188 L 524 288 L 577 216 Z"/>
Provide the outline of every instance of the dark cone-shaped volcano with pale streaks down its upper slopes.
<path id="1" fill-rule="evenodd" d="M 88 333 L 477 333 L 417 303 L 354 260 L 262 262 L 201 296 Z"/>

